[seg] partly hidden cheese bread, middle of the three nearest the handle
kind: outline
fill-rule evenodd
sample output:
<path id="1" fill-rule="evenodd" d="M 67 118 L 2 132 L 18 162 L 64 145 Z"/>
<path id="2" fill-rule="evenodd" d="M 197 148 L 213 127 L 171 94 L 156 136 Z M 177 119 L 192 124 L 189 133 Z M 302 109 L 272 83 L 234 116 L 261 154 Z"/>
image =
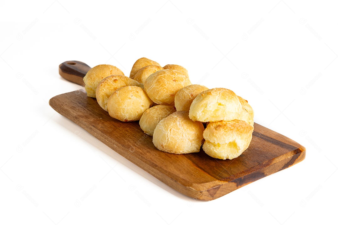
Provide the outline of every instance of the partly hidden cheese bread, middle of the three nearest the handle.
<path id="1" fill-rule="evenodd" d="M 143 87 L 139 82 L 121 75 L 112 75 L 104 78 L 96 88 L 96 100 L 102 109 L 108 111 L 107 102 L 110 95 L 117 89 L 124 86 Z"/>

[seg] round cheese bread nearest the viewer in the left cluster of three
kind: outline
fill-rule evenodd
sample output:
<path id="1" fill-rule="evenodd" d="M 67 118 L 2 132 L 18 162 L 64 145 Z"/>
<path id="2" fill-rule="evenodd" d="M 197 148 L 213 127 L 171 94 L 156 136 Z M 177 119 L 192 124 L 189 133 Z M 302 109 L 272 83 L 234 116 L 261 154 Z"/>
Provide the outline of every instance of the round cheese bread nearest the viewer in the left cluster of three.
<path id="1" fill-rule="evenodd" d="M 139 120 L 152 103 L 143 88 L 125 86 L 113 92 L 107 108 L 111 117 L 127 122 Z"/>

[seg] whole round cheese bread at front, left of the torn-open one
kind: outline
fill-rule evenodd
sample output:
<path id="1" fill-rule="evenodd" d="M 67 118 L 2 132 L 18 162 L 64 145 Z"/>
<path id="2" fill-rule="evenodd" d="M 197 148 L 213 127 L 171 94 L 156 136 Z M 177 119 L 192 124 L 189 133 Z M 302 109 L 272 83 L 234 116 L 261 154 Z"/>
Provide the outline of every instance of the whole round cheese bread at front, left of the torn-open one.
<path id="1" fill-rule="evenodd" d="M 164 152 L 198 152 L 203 140 L 203 130 L 203 124 L 192 121 L 187 111 L 174 112 L 156 125 L 152 141 L 156 148 Z"/>

